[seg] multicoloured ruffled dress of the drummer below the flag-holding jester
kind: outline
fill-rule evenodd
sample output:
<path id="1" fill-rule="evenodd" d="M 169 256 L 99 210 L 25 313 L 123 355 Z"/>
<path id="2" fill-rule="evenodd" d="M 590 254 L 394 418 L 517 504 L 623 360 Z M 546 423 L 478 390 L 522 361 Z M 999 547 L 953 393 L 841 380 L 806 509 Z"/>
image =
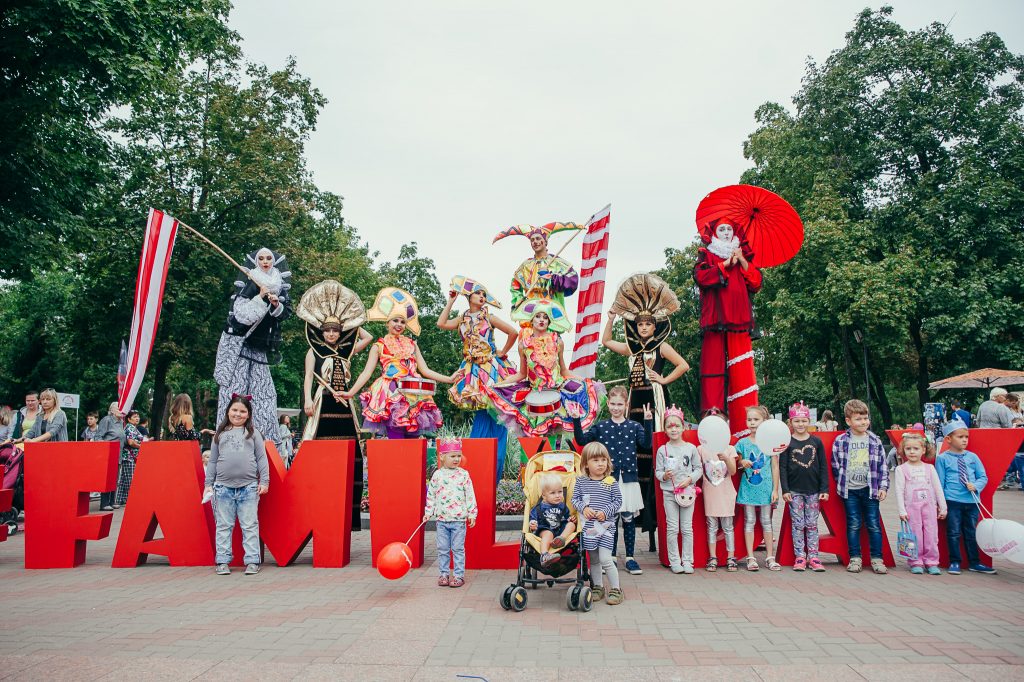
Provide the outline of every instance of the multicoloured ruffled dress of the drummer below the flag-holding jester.
<path id="1" fill-rule="evenodd" d="M 516 435 L 543 436 L 558 431 L 572 431 L 572 418 L 565 406 L 572 402 L 583 409 L 580 422 L 589 428 L 601 410 L 604 385 L 593 379 L 568 379 L 561 376 L 558 363 L 558 334 L 537 334 L 531 328 L 519 333 L 519 347 L 526 357 L 526 379 L 510 386 L 485 386 L 494 418 Z M 544 415 L 527 410 L 526 397 L 535 390 L 556 390 L 561 402 Z"/>

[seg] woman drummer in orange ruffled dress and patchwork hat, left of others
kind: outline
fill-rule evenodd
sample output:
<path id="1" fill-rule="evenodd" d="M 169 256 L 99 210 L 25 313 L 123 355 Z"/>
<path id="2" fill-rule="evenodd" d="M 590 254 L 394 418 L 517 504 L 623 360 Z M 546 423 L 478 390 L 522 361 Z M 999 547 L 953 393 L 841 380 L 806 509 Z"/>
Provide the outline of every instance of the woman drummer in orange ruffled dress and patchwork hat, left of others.
<path id="1" fill-rule="evenodd" d="M 407 328 L 417 336 L 420 334 L 420 310 L 416 299 L 401 289 L 386 287 L 378 292 L 367 318 L 386 322 L 387 334 L 371 347 L 362 374 L 351 388 L 342 391 L 341 398 L 353 398 L 370 380 L 374 367 L 379 363 L 381 376 L 370 386 L 370 390 L 359 395 L 362 428 L 388 438 L 418 438 L 433 433 L 440 428 L 442 420 L 432 392 L 402 390 L 400 382 L 425 377 L 451 384 L 454 377 L 437 374 L 427 367 L 416 341 L 404 336 Z"/>

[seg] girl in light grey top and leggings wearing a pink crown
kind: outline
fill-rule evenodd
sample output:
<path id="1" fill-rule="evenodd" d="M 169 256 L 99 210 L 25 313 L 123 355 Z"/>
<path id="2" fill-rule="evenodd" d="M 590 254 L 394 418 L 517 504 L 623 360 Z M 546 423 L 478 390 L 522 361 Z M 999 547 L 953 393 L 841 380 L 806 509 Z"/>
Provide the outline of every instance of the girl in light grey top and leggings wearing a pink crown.
<path id="1" fill-rule="evenodd" d="M 702 468 L 693 443 L 683 440 L 686 421 L 683 411 L 672 406 L 662 418 L 669 442 L 657 449 L 654 478 L 665 502 L 665 542 L 669 568 L 674 573 L 693 572 L 693 506 Z M 679 536 L 683 537 L 683 557 L 679 558 Z"/>

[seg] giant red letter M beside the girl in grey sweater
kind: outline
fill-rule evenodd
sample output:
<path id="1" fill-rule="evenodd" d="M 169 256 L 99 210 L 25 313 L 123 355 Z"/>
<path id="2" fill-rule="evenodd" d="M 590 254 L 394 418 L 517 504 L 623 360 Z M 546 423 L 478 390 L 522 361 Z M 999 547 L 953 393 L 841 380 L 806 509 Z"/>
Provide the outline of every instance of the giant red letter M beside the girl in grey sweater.
<path id="1" fill-rule="evenodd" d="M 270 489 L 259 501 L 259 535 L 278 565 L 295 561 L 310 540 L 313 565 L 348 564 L 355 441 L 305 440 L 291 469 L 266 443 Z M 390 496 L 381 496 L 389 503 Z"/>

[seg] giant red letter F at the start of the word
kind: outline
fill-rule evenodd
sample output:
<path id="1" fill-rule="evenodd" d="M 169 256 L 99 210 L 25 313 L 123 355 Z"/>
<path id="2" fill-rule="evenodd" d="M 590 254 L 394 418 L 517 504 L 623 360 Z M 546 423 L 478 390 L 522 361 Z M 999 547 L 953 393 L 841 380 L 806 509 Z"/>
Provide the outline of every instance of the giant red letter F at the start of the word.
<path id="1" fill-rule="evenodd" d="M 26 445 L 26 568 L 73 568 L 86 541 L 110 535 L 113 514 L 90 514 L 89 492 L 117 486 L 118 455 L 117 442 Z"/>

